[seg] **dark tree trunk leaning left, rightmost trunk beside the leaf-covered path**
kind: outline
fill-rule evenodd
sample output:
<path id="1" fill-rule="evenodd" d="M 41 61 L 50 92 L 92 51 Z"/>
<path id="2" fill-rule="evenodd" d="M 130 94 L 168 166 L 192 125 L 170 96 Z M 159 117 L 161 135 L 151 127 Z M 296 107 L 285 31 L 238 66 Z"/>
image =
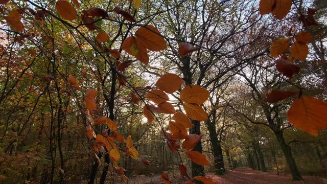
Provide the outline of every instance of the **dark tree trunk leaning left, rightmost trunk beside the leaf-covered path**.
<path id="1" fill-rule="evenodd" d="M 283 132 L 282 131 L 274 131 L 274 133 L 276 135 L 279 146 L 281 146 L 281 148 L 284 152 L 284 156 L 286 158 L 288 166 L 290 167 L 293 180 L 303 180 L 300 175 L 300 172 L 297 169 L 295 160 L 292 156 L 291 148 L 286 144 L 286 142 L 284 140 Z"/>

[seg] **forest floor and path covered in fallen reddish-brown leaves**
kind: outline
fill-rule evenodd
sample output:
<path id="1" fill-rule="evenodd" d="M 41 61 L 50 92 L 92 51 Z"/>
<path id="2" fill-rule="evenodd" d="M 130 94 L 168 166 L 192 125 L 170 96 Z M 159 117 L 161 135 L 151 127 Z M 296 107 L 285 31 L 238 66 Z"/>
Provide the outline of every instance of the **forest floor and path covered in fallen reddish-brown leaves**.
<path id="1" fill-rule="evenodd" d="M 304 181 L 292 181 L 291 175 L 275 175 L 269 172 L 256 171 L 250 168 L 238 168 L 228 171 L 224 176 L 215 176 L 213 173 L 207 173 L 207 177 L 219 184 L 324 184 L 325 182 L 315 176 L 304 176 Z M 180 177 L 170 178 L 172 183 L 184 183 Z M 137 184 L 161 184 L 160 175 L 138 176 L 128 183 Z"/>

